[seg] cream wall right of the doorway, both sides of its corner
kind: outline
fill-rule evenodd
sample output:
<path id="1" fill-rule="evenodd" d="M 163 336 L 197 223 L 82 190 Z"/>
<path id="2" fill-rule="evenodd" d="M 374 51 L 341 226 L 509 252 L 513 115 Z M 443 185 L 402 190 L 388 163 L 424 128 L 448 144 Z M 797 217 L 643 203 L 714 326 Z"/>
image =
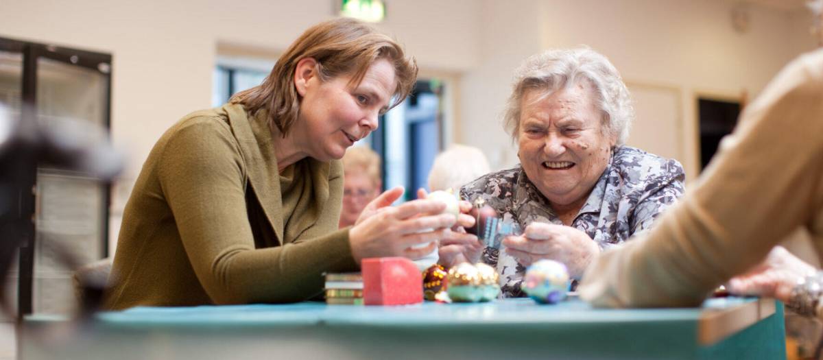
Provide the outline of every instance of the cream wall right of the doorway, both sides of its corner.
<path id="1" fill-rule="evenodd" d="M 486 1 L 481 21 L 484 57 L 463 81 L 462 127 L 502 129 L 507 76 L 526 56 L 545 48 L 588 44 L 610 58 L 626 82 L 679 92 L 683 132 L 676 157 L 694 178 L 699 168 L 696 94 L 740 97 L 746 90 L 751 99 L 797 53 L 813 48 L 805 10 L 780 12 L 750 5 L 749 30 L 738 33 L 730 20 L 733 6 L 716 0 Z M 653 143 L 657 130 L 635 127 L 631 137 Z M 472 132 L 459 140 L 483 147 L 493 168 L 517 163 L 502 130 Z"/>

